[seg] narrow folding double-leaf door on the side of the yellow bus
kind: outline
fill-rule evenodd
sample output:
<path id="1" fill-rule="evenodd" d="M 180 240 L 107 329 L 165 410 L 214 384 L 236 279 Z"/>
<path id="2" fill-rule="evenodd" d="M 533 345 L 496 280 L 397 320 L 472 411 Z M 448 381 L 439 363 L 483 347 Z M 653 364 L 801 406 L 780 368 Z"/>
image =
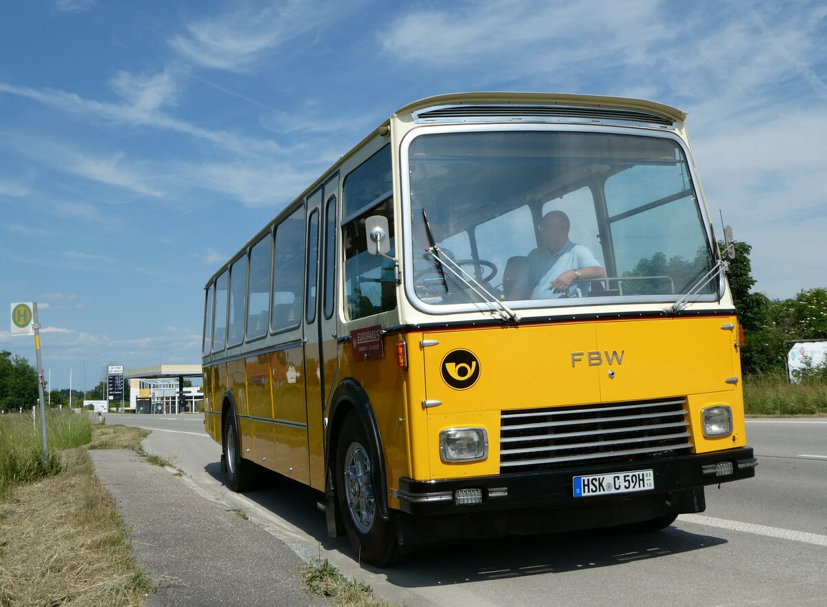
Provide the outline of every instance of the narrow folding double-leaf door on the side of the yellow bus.
<path id="1" fill-rule="evenodd" d="M 304 347 L 310 485 L 324 489 L 323 413 L 339 370 L 337 352 L 337 200 L 339 175 L 308 197 L 308 285 Z"/>

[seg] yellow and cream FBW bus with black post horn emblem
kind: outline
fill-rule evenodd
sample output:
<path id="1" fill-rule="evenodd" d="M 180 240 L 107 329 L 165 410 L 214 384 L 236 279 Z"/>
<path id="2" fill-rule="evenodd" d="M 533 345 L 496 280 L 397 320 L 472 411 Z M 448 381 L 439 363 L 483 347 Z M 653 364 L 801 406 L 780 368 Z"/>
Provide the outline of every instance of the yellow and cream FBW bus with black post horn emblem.
<path id="1" fill-rule="evenodd" d="M 462 93 L 395 112 L 206 284 L 207 432 L 384 566 L 630 525 L 754 476 L 686 113 Z"/>

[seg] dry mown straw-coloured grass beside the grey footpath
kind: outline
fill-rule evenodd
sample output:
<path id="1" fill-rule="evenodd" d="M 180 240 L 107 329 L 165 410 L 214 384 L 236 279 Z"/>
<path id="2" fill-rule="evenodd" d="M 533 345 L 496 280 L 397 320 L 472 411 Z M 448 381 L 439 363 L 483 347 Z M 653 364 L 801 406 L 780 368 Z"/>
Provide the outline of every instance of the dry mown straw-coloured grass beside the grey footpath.
<path id="1" fill-rule="evenodd" d="M 136 447 L 143 434 L 121 428 L 95 428 L 93 445 Z M 131 557 L 127 528 L 86 447 L 62 456 L 59 475 L 0 502 L 0 606 L 141 607 L 154 585 Z"/>

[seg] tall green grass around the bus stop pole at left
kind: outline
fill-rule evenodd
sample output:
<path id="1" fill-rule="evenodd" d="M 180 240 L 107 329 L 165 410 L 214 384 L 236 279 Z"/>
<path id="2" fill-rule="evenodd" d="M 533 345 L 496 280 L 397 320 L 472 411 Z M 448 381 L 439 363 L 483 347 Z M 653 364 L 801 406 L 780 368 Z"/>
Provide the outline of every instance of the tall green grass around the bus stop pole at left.
<path id="1" fill-rule="evenodd" d="M 0 415 L 0 497 L 12 486 L 57 474 L 64 465 L 59 452 L 85 445 L 91 438 L 92 424 L 86 415 L 68 409 L 49 409 L 46 411 L 49 455 L 44 457 L 39 420 L 33 423 L 31 413 Z"/>

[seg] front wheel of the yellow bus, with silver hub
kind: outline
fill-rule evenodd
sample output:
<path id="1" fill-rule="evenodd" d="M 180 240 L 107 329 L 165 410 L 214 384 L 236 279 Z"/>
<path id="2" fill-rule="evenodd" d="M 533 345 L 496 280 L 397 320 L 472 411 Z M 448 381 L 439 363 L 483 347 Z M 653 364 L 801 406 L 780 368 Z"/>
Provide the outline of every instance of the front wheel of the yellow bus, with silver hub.
<path id="1" fill-rule="evenodd" d="M 336 495 L 347 538 L 360 561 L 389 566 L 400 556 L 396 525 L 381 513 L 375 496 L 385 490 L 373 477 L 379 455 L 370 447 L 368 431 L 351 411 L 342 423 L 336 449 Z"/>

